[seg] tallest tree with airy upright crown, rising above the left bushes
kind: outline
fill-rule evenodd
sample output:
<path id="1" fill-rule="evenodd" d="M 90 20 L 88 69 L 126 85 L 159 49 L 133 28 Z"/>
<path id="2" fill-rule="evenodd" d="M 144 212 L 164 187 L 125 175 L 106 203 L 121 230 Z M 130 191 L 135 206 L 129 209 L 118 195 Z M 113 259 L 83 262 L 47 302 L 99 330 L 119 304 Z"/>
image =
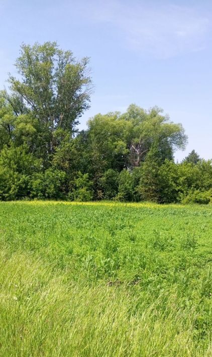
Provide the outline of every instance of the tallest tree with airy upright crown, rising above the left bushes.
<path id="1" fill-rule="evenodd" d="M 91 79 L 88 58 L 77 61 L 72 52 L 56 42 L 23 44 L 16 61 L 19 78 L 10 75 L 12 95 L 7 95 L 14 113 L 30 113 L 39 122 L 43 153 L 51 155 L 64 137 L 72 135 L 79 117 L 89 108 Z M 59 133 L 57 132 L 59 131 Z"/>

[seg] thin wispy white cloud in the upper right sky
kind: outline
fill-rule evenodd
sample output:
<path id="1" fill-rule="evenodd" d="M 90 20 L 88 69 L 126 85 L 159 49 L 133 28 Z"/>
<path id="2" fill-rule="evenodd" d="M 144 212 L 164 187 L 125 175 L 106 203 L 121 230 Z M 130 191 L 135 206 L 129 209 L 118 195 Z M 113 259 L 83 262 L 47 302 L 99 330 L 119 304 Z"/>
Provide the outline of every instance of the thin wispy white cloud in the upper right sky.
<path id="1" fill-rule="evenodd" d="M 128 48 L 160 58 L 204 49 L 210 31 L 207 16 L 182 6 L 93 1 L 86 16 L 91 21 L 111 24 Z"/>

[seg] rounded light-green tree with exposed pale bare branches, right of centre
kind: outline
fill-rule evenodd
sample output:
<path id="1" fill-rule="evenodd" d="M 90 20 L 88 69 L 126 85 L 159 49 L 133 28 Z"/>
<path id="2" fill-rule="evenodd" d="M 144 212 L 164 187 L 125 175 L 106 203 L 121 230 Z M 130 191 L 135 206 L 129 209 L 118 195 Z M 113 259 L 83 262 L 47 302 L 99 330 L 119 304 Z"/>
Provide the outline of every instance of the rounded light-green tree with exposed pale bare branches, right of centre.
<path id="1" fill-rule="evenodd" d="M 175 149 L 184 149 L 187 136 L 182 125 L 171 122 L 168 115 L 162 114 L 161 108 L 153 107 L 145 111 L 133 104 L 121 115 L 121 120 L 132 123 L 131 140 L 128 143 L 131 166 L 139 166 L 155 143 L 163 161 L 172 159 Z"/>

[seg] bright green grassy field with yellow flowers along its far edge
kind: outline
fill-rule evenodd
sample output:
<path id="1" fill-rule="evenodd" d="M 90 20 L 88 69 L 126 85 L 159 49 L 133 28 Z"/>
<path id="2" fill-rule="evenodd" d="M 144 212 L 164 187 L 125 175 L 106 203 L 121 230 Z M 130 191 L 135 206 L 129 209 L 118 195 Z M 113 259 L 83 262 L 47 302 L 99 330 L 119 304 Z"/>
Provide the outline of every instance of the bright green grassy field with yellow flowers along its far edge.
<path id="1" fill-rule="evenodd" d="M 211 356 L 212 206 L 0 203 L 1 356 Z"/>

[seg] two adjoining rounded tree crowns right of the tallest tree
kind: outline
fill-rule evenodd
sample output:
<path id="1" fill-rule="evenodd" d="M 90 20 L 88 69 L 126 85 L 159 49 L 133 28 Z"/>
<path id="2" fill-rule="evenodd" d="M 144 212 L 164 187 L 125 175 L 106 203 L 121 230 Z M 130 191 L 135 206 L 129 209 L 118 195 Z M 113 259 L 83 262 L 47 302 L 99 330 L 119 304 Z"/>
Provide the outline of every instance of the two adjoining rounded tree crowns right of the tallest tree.
<path id="1" fill-rule="evenodd" d="M 140 166 L 151 147 L 157 146 L 161 163 L 183 149 L 187 137 L 181 124 L 172 123 L 162 110 L 131 105 L 124 114 L 98 114 L 88 122 L 89 149 L 99 169 Z M 94 167 L 94 164 L 93 164 Z"/>

